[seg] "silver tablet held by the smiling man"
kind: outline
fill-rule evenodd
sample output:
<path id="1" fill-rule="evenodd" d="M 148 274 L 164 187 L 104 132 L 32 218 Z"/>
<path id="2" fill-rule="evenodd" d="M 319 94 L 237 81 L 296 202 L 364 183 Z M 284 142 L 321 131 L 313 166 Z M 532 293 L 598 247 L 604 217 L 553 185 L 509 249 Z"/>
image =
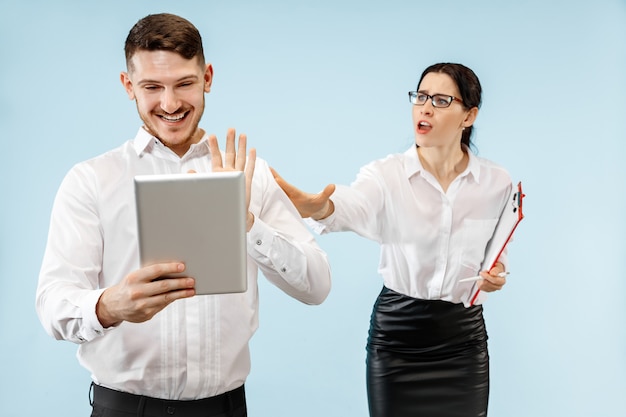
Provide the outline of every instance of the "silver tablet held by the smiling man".
<path id="1" fill-rule="evenodd" d="M 172 276 L 195 278 L 196 294 L 246 291 L 243 172 L 138 175 L 135 199 L 142 266 L 184 262 Z"/>

